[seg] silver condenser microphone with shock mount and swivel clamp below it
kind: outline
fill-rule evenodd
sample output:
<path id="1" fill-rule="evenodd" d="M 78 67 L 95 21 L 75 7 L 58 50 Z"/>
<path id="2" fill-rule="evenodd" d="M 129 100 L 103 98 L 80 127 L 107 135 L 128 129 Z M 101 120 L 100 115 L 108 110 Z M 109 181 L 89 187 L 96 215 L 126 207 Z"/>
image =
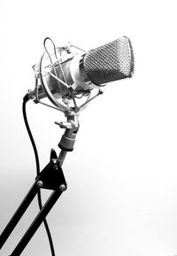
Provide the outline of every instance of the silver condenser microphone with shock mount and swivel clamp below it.
<path id="1" fill-rule="evenodd" d="M 46 41 L 50 42 L 48 48 Z M 65 128 L 58 147 L 62 151 L 73 151 L 75 136 L 80 127 L 78 116 L 81 110 L 103 93 L 102 87 L 107 83 L 134 74 L 132 44 L 123 36 L 96 49 L 84 51 L 71 43 L 56 47 L 47 37 L 44 48 L 42 58 L 34 66 L 35 89 L 29 90 L 27 96 L 35 103 L 65 113 L 66 121 L 55 122 L 60 128 Z M 45 99 L 47 102 L 49 99 L 52 105 L 47 104 Z M 62 152 L 60 156 L 60 161 L 63 161 Z"/>

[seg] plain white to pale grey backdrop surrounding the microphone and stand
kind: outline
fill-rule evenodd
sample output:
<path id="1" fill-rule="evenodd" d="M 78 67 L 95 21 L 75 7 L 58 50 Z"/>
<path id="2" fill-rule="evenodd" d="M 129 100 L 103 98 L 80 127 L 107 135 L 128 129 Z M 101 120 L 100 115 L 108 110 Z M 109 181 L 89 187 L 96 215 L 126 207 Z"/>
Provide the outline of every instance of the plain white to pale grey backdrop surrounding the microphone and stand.
<path id="1" fill-rule="evenodd" d="M 1 1 L 0 230 L 35 180 L 21 104 L 35 87 L 31 66 L 42 55 L 43 39 L 89 50 L 127 35 L 135 76 L 108 84 L 81 112 L 75 148 L 64 164 L 68 190 L 48 221 L 56 255 L 177 253 L 175 2 Z M 54 121 L 65 118 L 33 102 L 27 115 L 44 167 L 63 134 Z M 37 212 L 35 201 L 1 255 L 12 253 Z M 50 255 L 43 227 L 22 255 Z"/>

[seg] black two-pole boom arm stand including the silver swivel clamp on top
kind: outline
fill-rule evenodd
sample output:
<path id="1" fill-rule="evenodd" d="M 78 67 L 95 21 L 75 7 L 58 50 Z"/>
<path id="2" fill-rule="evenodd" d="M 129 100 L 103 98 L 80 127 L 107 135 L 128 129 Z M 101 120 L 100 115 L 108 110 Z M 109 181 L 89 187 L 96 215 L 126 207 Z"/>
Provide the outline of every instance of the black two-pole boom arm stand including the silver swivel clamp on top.
<path id="1" fill-rule="evenodd" d="M 56 122 L 60 128 L 65 128 L 65 133 L 58 144 L 58 147 L 61 149 L 59 156 L 57 156 L 56 151 L 50 151 L 49 164 L 44 167 L 41 173 L 35 178 L 35 182 L 28 191 L 27 196 L 23 199 L 22 203 L 19 205 L 19 208 L 13 214 L 12 219 L 2 232 L 0 236 L 0 249 L 3 247 L 8 237 L 10 237 L 12 230 L 18 224 L 19 220 L 26 212 L 27 207 L 31 204 L 38 191 L 44 189 L 53 190 L 53 192 L 44 206 L 42 206 L 41 211 L 36 215 L 35 220 L 29 226 L 25 235 L 19 241 L 19 244 L 9 256 L 19 256 L 21 252 L 23 252 L 30 239 L 35 235 L 35 231 L 40 227 L 47 214 L 50 213 L 51 208 L 58 201 L 61 194 L 67 189 L 62 164 L 65 160 L 67 151 L 73 151 L 73 144 L 79 129 L 79 122 L 77 119 L 77 112 L 65 112 L 65 116 L 67 117 L 66 122 Z"/>

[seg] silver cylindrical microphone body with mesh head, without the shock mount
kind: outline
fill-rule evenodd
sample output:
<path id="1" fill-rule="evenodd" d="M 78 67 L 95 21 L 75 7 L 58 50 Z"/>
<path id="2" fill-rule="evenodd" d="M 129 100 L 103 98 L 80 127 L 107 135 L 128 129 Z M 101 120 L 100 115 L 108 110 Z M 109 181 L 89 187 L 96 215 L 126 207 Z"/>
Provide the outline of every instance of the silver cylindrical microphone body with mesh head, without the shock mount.
<path id="1" fill-rule="evenodd" d="M 131 77 L 134 74 L 134 62 L 132 44 L 123 36 L 94 50 L 56 63 L 50 68 L 50 73 L 45 75 L 45 79 L 54 97 L 69 99 L 71 89 L 54 76 L 65 81 L 72 88 L 73 96 L 77 96 L 87 94 L 91 89 L 108 82 Z M 46 97 L 42 88 L 38 93 L 39 98 Z"/>

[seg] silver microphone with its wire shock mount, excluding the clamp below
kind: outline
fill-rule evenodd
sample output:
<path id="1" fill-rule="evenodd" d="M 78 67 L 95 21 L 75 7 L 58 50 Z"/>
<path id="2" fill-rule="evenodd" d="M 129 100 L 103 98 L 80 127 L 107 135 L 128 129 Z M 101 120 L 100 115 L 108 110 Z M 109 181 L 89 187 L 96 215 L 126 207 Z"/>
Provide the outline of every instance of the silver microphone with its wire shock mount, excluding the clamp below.
<path id="1" fill-rule="evenodd" d="M 75 101 L 77 97 L 88 96 L 92 89 L 134 74 L 134 52 L 127 36 L 87 52 L 73 45 L 56 48 L 50 42 L 53 53 L 46 49 L 35 66 L 38 86 L 37 93 L 35 90 L 31 95 L 35 95 L 36 102 L 48 97 L 62 108 L 58 104 L 60 99 Z"/>

